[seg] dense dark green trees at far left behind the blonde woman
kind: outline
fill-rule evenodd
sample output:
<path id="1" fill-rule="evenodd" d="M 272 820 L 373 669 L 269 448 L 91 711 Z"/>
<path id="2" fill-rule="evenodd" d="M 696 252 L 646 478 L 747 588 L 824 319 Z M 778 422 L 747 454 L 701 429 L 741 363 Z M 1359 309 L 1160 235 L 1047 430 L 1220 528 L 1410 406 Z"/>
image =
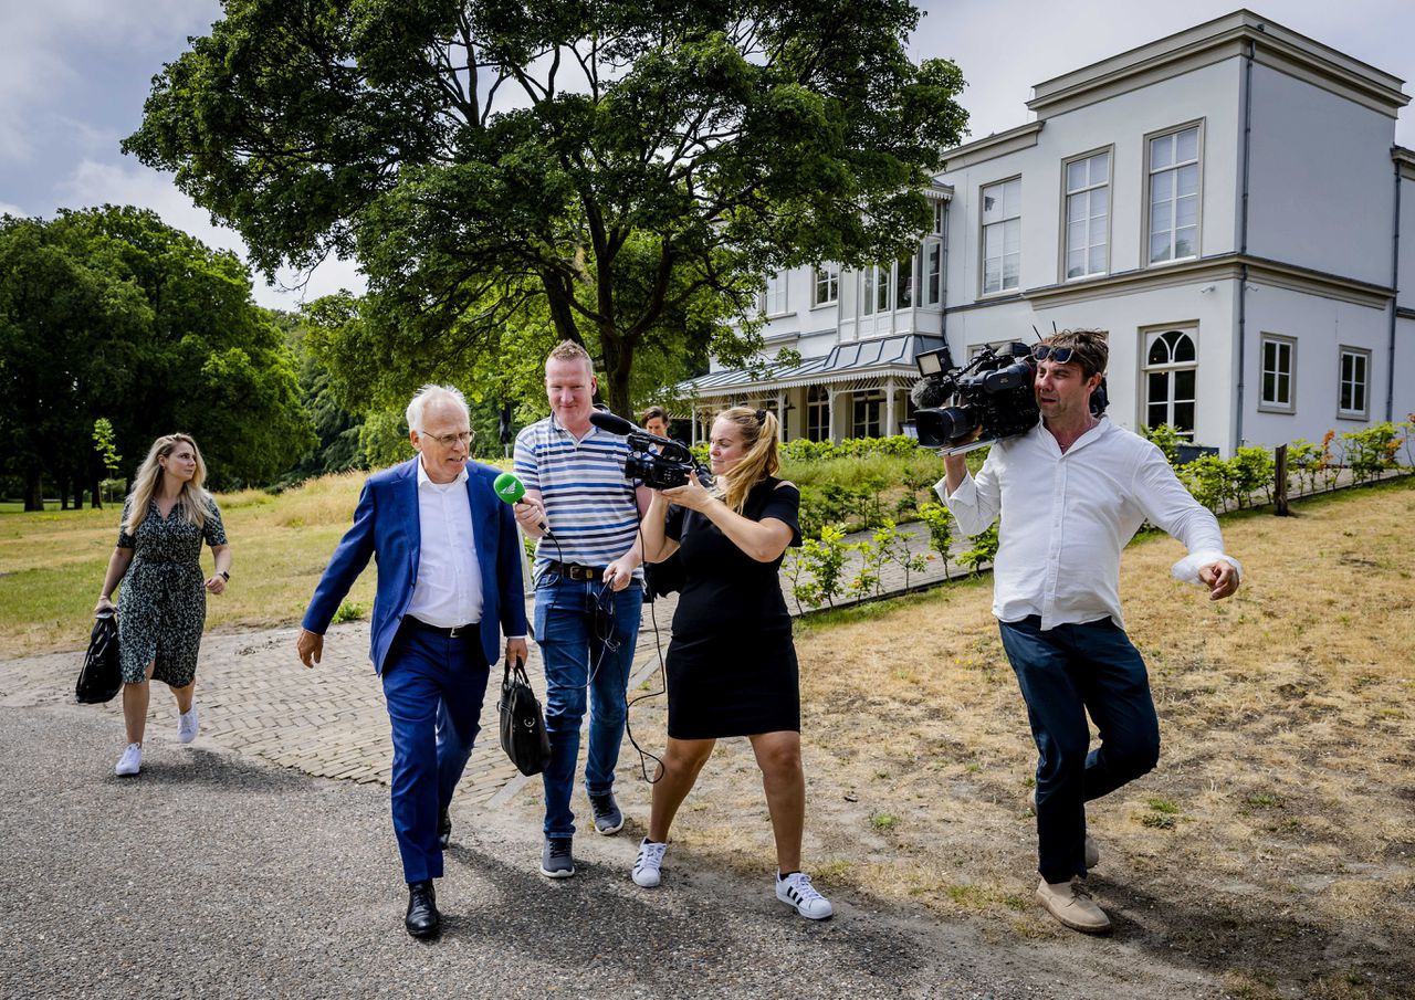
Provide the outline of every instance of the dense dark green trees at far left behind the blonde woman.
<path id="1" fill-rule="evenodd" d="M 267 482 L 316 440 L 290 351 L 235 255 L 134 208 L 4 216 L 0 455 L 28 508 L 44 478 L 98 501 L 99 419 L 123 474 L 183 430 L 216 487 Z"/>

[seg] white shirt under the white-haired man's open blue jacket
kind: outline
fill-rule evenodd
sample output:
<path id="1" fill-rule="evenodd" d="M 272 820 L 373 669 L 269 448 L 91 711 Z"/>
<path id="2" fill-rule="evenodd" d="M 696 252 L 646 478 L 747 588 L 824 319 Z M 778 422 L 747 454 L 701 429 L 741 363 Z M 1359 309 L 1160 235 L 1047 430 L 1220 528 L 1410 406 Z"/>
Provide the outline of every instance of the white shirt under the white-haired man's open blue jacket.
<path id="1" fill-rule="evenodd" d="M 453 482 L 433 482 L 417 460 L 417 580 L 405 614 L 439 628 L 481 621 L 481 566 L 466 468 Z"/>

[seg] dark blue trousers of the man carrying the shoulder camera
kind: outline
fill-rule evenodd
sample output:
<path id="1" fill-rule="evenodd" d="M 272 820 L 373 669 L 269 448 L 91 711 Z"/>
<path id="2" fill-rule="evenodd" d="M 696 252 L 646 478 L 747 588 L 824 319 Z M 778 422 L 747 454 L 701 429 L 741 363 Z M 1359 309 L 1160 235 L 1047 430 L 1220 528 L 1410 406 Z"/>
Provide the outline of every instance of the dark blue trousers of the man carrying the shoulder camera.
<path id="1" fill-rule="evenodd" d="M 1085 803 L 1159 761 L 1145 661 L 1109 618 L 1044 632 L 1036 615 L 998 625 L 1037 744 L 1037 870 L 1049 883 L 1084 877 Z"/>

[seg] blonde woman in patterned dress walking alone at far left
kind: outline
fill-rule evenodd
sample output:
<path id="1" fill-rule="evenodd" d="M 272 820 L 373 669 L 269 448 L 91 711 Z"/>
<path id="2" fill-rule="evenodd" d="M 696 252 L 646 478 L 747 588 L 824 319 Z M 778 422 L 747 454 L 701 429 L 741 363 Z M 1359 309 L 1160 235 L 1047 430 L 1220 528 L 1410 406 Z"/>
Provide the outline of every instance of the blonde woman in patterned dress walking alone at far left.
<path id="1" fill-rule="evenodd" d="M 187 434 L 153 441 L 133 489 L 123 504 L 117 546 L 108 560 L 95 614 L 113 611 L 117 595 L 117 653 L 123 666 L 123 724 L 127 748 L 113 772 L 134 775 L 143 767 L 149 685 L 164 680 L 177 699 L 177 738 L 197 737 L 197 653 L 207 622 L 207 594 L 219 594 L 231 579 L 231 546 L 216 501 L 202 488 L 207 464 Z M 201 543 L 216 560 L 209 580 L 201 574 Z"/>

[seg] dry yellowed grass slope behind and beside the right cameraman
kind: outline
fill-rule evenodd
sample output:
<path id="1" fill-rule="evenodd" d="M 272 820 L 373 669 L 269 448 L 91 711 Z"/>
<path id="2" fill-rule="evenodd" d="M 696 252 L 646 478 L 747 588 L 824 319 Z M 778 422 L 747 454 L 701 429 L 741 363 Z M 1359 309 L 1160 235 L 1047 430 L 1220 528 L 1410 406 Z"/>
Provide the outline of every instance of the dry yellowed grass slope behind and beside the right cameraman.
<path id="1" fill-rule="evenodd" d="M 1412 487 L 1227 518 L 1247 577 L 1224 603 L 1169 576 L 1169 537 L 1126 552 L 1163 751 L 1090 810 L 1118 928 L 1101 948 L 1191 962 L 1232 996 L 1415 994 Z M 990 600 L 982 580 L 798 627 L 807 866 L 828 891 L 979 915 L 998 941 L 1065 939 L 1032 900 L 1036 755 Z M 631 713 L 644 745 L 659 704 Z M 722 744 L 674 839 L 771 870 L 744 741 Z"/>

